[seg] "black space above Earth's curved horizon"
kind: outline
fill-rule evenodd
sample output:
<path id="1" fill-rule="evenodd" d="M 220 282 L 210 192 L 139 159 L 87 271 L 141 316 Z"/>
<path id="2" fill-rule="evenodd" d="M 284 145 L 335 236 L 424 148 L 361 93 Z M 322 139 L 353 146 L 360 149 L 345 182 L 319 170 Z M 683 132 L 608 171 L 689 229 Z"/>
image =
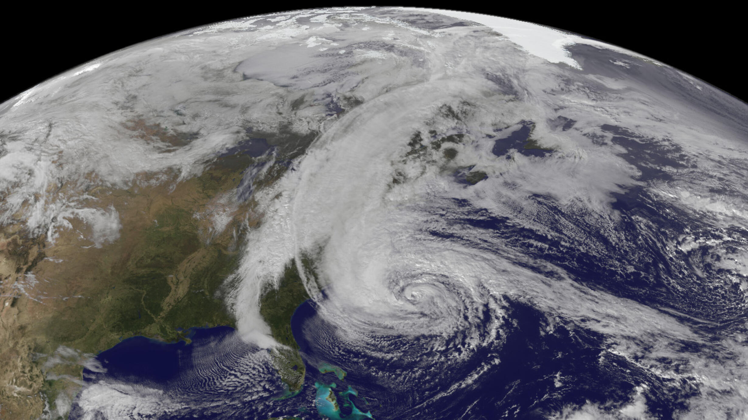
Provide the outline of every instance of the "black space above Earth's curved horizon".
<path id="1" fill-rule="evenodd" d="M 217 7 L 211 7 L 211 3 Z M 555 6 L 534 1 L 507 3 L 491 1 L 495 6 L 482 7 L 468 2 L 412 5 L 488 13 L 576 32 L 667 63 L 748 101 L 742 57 L 744 15 L 736 10 L 702 10 L 703 4 L 699 10 L 688 12 L 614 2 Z M 336 5 L 357 4 L 309 2 L 289 7 L 248 1 L 208 2 L 203 7 L 187 8 L 180 3 L 169 3 L 169 7 L 121 3 L 88 9 L 67 3 L 46 7 L 13 2 L 12 9 L 0 13 L 4 34 L 0 103 L 73 66 L 153 37 L 241 16 Z"/>

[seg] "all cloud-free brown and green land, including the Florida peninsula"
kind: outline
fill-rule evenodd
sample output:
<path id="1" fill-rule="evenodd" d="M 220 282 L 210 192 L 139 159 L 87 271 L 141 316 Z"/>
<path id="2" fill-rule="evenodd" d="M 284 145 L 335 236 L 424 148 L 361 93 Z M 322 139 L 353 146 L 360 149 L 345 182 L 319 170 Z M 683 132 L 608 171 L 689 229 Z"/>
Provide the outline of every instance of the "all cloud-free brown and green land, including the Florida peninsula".
<path id="1" fill-rule="evenodd" d="M 126 128 L 145 141 L 186 141 L 179 133 L 141 120 Z M 300 154 L 316 133 L 281 131 L 274 136 L 268 140 L 282 153 Z M 252 198 L 233 203 L 228 210 L 221 200 L 236 193 L 245 169 L 263 160 L 269 158 L 237 151 L 207 163 L 195 178 L 180 181 L 177 170 L 142 173 L 127 189 L 87 190 L 91 207 L 113 207 L 122 225 L 119 237 L 100 247 L 87 239 L 93 227 L 84 220 L 71 219 L 72 228 L 57 232 L 54 244 L 45 236 L 23 233 L 20 222 L 0 226 L 0 275 L 9 279 L 4 283 L 11 287 L 16 278 L 23 280 L 24 273 L 44 279 L 31 294 L 8 298 L 0 319 L 8 326 L 0 330 L 0 379 L 13 380 L 21 386 L 16 391 L 22 389 L 0 387 L 0 417 L 54 413 L 58 397 L 71 401 L 78 392 L 86 354 L 97 354 L 122 339 L 141 335 L 174 342 L 188 340 L 190 327 L 234 326 L 221 298 L 222 285 L 239 263 L 246 225 L 257 225 L 260 219 L 252 216 Z M 281 163 L 271 164 L 255 181 L 256 189 L 277 181 L 286 170 Z M 76 183 L 66 184 L 55 193 L 79 197 L 78 188 Z M 231 222 L 222 232 L 212 225 L 215 211 L 229 212 L 224 216 Z M 292 290 L 286 324 L 305 299 L 295 295 L 301 290 L 294 286 L 298 283 L 290 284 L 278 299 L 278 307 L 285 307 L 284 293 Z M 34 293 L 43 298 L 34 298 Z M 289 342 L 278 328 L 275 333 L 279 342 Z M 292 351 L 278 351 L 276 360 L 289 369 L 301 369 L 303 378 L 298 347 L 289 348 Z M 59 351 L 70 357 L 58 357 Z M 301 386 L 294 373 L 281 372 L 290 389 Z"/>

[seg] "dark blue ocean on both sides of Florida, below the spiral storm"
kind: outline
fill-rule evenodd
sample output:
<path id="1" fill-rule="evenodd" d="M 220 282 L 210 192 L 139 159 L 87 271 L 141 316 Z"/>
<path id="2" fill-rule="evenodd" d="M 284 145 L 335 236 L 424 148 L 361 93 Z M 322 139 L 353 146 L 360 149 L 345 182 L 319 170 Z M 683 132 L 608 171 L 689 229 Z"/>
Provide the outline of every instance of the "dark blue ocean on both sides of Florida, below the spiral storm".
<path id="1" fill-rule="evenodd" d="M 283 398 L 283 385 L 276 380 L 274 396 L 252 400 L 242 387 L 246 383 L 231 384 L 230 369 L 207 369 L 206 377 L 206 369 L 192 363 L 194 354 L 206 349 L 216 357 L 241 359 L 242 354 L 222 353 L 222 346 L 236 338 L 230 327 L 193 328 L 189 344 L 142 336 L 125 339 L 96 357 L 106 372 L 85 369 L 84 377 L 88 383 L 144 384 L 166 390 L 170 398 L 191 398 L 188 405 L 194 410 L 155 419 L 542 419 L 569 404 L 628 401 L 641 384 L 660 390 L 648 395 L 648 401 L 663 418 L 682 408 L 678 383 L 665 383 L 622 357 L 605 354 L 604 337 L 578 327 L 551 328 L 544 313 L 505 299 L 513 321 L 495 342 L 465 354 L 459 334 L 447 342 L 444 354 L 429 346 L 429 336 L 378 336 L 376 353 L 366 345 L 357 348 L 336 339 L 338 327 L 325 322 L 316 304 L 307 301 L 297 308 L 291 324 L 307 376 L 301 392 L 290 398 Z M 486 324 L 490 316 L 486 308 Z M 450 360 L 455 355 L 462 357 Z M 272 382 L 272 370 L 264 374 Z M 185 380 L 189 377 L 200 379 Z M 226 389 L 201 393 L 201 387 L 227 377 L 231 380 Z M 191 385 L 180 389 L 187 383 Z M 225 405 L 215 404 L 217 399 Z M 81 410 L 74 407 L 70 419 L 80 418 Z"/>

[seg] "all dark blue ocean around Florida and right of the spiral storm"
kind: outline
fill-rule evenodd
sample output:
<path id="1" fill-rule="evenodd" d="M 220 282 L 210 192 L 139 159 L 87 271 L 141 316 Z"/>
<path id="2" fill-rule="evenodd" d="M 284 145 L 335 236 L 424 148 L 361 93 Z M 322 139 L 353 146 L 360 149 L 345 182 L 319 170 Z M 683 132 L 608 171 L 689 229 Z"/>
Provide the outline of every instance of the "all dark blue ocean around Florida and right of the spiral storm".
<path id="1" fill-rule="evenodd" d="M 669 225 L 672 221 L 660 220 L 663 212 L 641 189 L 630 189 L 615 198 L 613 207 L 622 214 L 622 233 L 649 237 L 640 234 L 641 228 L 634 223 L 637 215 L 657 221 L 660 228 L 681 230 Z M 552 226 L 562 225 L 554 222 L 556 219 L 571 217 L 562 213 L 551 198 L 536 195 L 531 199 Z M 554 263 L 583 285 L 637 301 L 675 301 L 652 280 L 657 278 L 655 274 L 667 274 L 664 257 L 659 264 L 650 264 L 652 273 L 616 272 L 610 269 L 610 262 L 619 251 L 612 245 L 610 254 L 602 253 L 604 248 L 589 253 L 473 208 L 468 201 L 454 204 L 460 211 L 439 216 L 441 223 L 433 224 L 439 228 L 429 233 L 485 248 L 490 243 L 476 242 L 475 237 L 465 236 L 462 228 L 491 231 L 503 247 Z M 589 228 L 584 219 L 574 222 L 580 228 Z M 588 239 L 606 243 L 601 234 L 591 234 Z M 538 247 L 538 243 L 547 246 Z M 648 249 L 652 251 L 644 257 L 659 256 L 655 245 Z M 505 257 L 511 258 L 511 254 Z M 628 254 L 630 259 L 635 257 Z M 515 263 L 538 269 L 524 260 Z M 637 266 L 648 267 L 646 263 Z M 684 410 L 684 401 L 698 392 L 684 380 L 657 376 L 604 351 L 606 338 L 599 333 L 564 319 L 551 319 L 530 302 L 509 296 L 497 298 L 503 301 L 503 314 L 491 313 L 485 307 L 483 319 L 477 320 L 473 331 L 456 331 L 438 348 L 432 343 L 444 337 L 383 335 L 380 331 L 361 342 L 343 339 L 349 334 L 340 330 L 340 323 L 331 324 L 319 316 L 315 302 L 307 301 L 295 310 L 291 320 L 307 374 L 301 392 L 290 398 L 283 398 L 288 393 L 269 363 L 260 366 L 242 362 L 253 357 L 269 358 L 255 357 L 266 350 L 237 345 L 240 340 L 230 327 L 193 328 L 190 344 L 145 337 L 125 339 L 97 356 L 106 372 L 85 369 L 84 378 L 88 383 L 105 380 L 144 384 L 165 390 L 172 399 L 186 401 L 188 408 L 178 414 L 155 419 L 545 419 L 564 407 L 580 407 L 586 401 L 620 407 L 630 403 L 637 389 L 646 389 L 647 405 L 655 418 L 669 419 Z M 324 301 L 325 296 L 320 299 Z M 470 334 L 488 336 L 491 320 L 499 318 L 505 322 L 495 339 L 480 340 L 478 348 L 466 345 Z M 689 350 L 684 343 L 684 351 L 701 350 Z M 207 362 L 205 354 L 211 355 Z M 200 363 L 194 362 L 195 355 L 200 355 Z M 237 374 L 237 369 L 246 370 Z M 257 394 L 257 384 L 266 392 L 252 398 L 252 392 Z M 80 418 L 80 410 L 71 412 L 70 419 Z"/>

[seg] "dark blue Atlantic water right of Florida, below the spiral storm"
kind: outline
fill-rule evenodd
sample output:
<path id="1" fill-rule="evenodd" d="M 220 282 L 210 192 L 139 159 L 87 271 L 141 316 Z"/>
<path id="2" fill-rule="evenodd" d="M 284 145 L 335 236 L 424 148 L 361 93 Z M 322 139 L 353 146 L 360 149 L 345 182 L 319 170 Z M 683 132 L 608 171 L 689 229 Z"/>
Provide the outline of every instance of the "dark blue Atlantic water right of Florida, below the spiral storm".
<path id="1" fill-rule="evenodd" d="M 683 408 L 678 400 L 687 390 L 603 352 L 600 334 L 551 327 L 545 313 L 505 298 L 512 324 L 495 342 L 468 353 L 461 353 L 459 334 L 441 354 L 428 336 L 380 336 L 376 354 L 339 345 L 312 302 L 296 310 L 293 333 L 307 363 L 326 360 L 346 372 L 345 381 L 335 380 L 337 388 L 356 389 L 365 398 L 355 400 L 357 407 L 371 410 L 374 419 L 545 419 L 586 401 L 628 401 L 640 384 L 659 390 L 648 401 L 661 418 Z M 488 324 L 488 308 L 485 317 Z M 454 356 L 462 359 L 445 362 Z"/>

